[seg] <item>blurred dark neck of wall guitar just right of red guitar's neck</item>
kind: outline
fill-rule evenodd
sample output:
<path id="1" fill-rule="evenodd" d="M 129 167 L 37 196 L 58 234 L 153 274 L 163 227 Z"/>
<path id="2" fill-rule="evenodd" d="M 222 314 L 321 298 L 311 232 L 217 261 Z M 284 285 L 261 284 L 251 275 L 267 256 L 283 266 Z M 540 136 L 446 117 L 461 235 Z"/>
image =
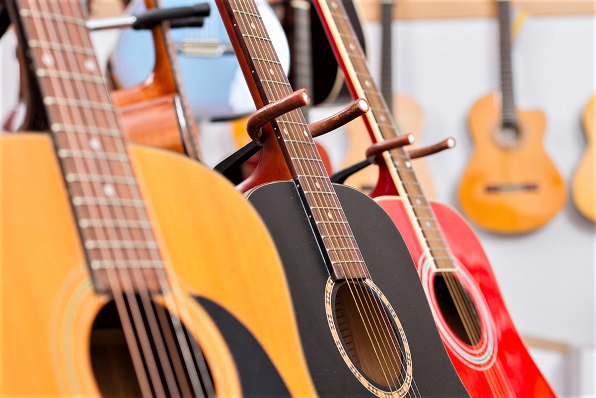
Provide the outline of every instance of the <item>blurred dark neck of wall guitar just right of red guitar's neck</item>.
<path id="1" fill-rule="evenodd" d="M 392 24 L 393 0 L 383 0 L 381 2 L 381 93 L 390 110 L 393 109 Z"/>

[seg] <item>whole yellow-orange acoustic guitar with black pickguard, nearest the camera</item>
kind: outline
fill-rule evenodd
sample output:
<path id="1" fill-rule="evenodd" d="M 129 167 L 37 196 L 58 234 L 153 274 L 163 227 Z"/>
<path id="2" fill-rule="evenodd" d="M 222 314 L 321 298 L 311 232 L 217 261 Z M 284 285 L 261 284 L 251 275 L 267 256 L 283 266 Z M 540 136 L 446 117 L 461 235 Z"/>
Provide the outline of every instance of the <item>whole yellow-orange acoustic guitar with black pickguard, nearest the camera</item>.
<path id="1" fill-rule="evenodd" d="M 0 137 L 0 396 L 313 396 L 257 213 L 125 144 L 78 0 L 7 6 L 51 134 Z"/>

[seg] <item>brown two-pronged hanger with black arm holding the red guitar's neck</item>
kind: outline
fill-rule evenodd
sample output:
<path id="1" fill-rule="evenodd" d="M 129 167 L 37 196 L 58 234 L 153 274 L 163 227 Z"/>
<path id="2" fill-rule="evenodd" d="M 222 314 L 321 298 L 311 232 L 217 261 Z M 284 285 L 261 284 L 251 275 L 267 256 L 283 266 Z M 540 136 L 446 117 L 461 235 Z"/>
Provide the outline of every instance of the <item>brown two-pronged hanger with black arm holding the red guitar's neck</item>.
<path id="1" fill-rule="evenodd" d="M 339 172 L 334 173 L 334 175 L 331 176 L 331 182 L 335 182 L 336 184 L 343 184 L 344 182 L 346 182 L 346 179 L 349 178 L 349 176 L 353 175 L 356 172 L 359 172 L 360 170 L 364 169 L 364 167 L 370 166 L 371 164 L 378 164 L 378 157 L 384 151 L 389 151 L 395 148 L 401 148 L 404 145 L 409 145 L 413 143 L 414 136 L 412 136 L 411 134 L 404 134 L 395 138 L 386 139 L 385 141 L 375 142 L 373 145 L 368 147 L 366 151 L 367 158 L 365 160 L 359 161 L 358 163 L 352 164 L 352 166 L 346 167 L 345 169 L 339 170 Z M 437 142 L 437 144 L 407 151 L 407 154 L 410 159 L 417 159 L 419 157 L 433 155 L 453 147 L 455 147 L 455 139 L 449 137 L 441 142 Z"/>

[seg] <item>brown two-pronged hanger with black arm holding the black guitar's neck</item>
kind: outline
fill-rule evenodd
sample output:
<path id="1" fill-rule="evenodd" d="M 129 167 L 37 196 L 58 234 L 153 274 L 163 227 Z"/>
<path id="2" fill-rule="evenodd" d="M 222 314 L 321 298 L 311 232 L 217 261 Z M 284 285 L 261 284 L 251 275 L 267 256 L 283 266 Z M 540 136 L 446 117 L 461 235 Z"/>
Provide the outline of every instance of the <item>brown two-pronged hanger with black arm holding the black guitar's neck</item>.
<path id="1" fill-rule="evenodd" d="M 253 116 L 250 117 L 249 122 L 246 125 L 247 132 L 253 141 L 244 144 L 243 147 L 219 162 L 217 166 L 213 167 L 213 170 L 221 173 L 234 184 L 240 184 L 242 181 L 238 181 L 238 170 L 247 160 L 261 150 L 263 145 L 263 134 L 261 129 L 263 126 L 276 117 L 280 117 L 289 111 L 307 105 L 309 101 L 310 99 L 308 98 L 308 95 L 306 95 L 306 90 L 300 89 L 294 91 L 285 98 L 278 99 L 278 101 L 271 102 L 271 104 L 265 105 L 257 110 Z M 369 109 L 370 105 L 368 105 L 368 102 L 365 99 L 356 99 L 356 101 L 353 101 L 350 105 L 336 114 L 309 124 L 308 128 L 311 130 L 313 138 L 315 138 L 328 133 L 331 130 L 340 128 L 346 123 L 356 119 L 356 117 L 367 113 Z"/>

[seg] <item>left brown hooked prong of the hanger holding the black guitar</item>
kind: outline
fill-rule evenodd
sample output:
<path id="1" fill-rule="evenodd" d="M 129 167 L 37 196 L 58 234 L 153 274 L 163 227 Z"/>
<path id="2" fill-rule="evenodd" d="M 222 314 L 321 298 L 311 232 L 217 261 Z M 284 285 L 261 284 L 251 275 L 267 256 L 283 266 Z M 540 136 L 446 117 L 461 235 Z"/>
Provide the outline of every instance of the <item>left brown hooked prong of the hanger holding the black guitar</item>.
<path id="1" fill-rule="evenodd" d="M 252 116 L 250 116 L 249 121 L 246 123 L 246 131 L 249 133 L 253 142 L 262 147 L 263 133 L 261 132 L 261 129 L 263 126 L 276 117 L 280 117 L 283 114 L 308 105 L 310 102 L 311 99 L 308 98 L 306 89 L 301 88 L 296 90 L 292 94 L 271 102 L 271 104 L 267 104 L 253 113 Z"/>

